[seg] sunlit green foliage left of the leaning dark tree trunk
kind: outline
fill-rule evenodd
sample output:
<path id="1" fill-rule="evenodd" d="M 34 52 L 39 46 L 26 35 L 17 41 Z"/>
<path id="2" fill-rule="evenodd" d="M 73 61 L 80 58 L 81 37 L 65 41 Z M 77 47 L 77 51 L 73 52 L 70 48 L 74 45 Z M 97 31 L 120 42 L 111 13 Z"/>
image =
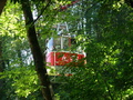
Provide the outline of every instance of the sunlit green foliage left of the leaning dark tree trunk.
<path id="1" fill-rule="evenodd" d="M 31 98 L 30 93 L 38 92 L 40 88 L 37 87 L 38 78 L 33 70 L 34 67 L 32 67 L 32 56 L 25 39 L 20 4 L 8 2 L 1 14 L 0 23 L 2 59 L 4 61 L 4 71 L 0 76 L 2 78 L 0 79 L 4 81 L 4 86 L 0 99 Z"/>

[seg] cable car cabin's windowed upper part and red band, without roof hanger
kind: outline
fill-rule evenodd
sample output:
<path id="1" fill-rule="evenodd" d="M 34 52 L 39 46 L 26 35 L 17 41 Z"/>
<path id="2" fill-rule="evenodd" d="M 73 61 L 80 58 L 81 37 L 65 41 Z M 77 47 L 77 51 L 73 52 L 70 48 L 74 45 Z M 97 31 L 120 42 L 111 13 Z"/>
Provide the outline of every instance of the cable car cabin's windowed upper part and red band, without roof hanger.
<path id="1" fill-rule="evenodd" d="M 83 53 L 71 51 L 71 48 L 75 44 L 74 38 L 69 36 L 58 36 L 58 38 L 51 38 L 48 41 L 47 62 L 50 67 L 78 66 L 81 59 L 84 58 Z M 81 51 L 81 50 L 80 50 Z"/>

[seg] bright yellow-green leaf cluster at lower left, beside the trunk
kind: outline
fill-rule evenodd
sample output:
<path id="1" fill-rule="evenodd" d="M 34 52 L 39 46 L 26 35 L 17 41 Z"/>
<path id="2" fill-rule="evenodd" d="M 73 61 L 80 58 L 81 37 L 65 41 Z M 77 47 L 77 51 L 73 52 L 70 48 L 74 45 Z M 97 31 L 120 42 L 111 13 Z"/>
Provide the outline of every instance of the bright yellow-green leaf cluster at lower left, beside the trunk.
<path id="1" fill-rule="evenodd" d="M 39 89 L 38 77 L 33 67 L 12 67 L 4 71 L 2 77 L 8 79 L 7 82 L 11 82 L 12 89 L 14 89 L 18 97 L 28 97 Z"/>

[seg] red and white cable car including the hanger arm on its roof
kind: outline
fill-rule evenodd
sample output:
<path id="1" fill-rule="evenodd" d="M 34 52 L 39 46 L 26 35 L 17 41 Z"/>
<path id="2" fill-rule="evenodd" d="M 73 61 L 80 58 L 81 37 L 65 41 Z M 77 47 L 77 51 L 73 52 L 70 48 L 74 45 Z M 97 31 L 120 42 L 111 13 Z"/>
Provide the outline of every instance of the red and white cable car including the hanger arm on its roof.
<path id="1" fill-rule="evenodd" d="M 48 40 L 45 59 L 49 67 L 54 68 L 55 71 L 60 72 L 61 69 L 69 63 L 72 63 L 71 67 L 78 66 L 81 62 L 81 59 L 84 58 L 84 54 L 80 49 L 76 49 L 75 51 L 71 50 L 76 42 L 74 36 L 64 33 L 64 30 L 69 32 L 66 23 L 64 27 L 58 24 L 54 28 L 57 28 L 58 34 Z"/>

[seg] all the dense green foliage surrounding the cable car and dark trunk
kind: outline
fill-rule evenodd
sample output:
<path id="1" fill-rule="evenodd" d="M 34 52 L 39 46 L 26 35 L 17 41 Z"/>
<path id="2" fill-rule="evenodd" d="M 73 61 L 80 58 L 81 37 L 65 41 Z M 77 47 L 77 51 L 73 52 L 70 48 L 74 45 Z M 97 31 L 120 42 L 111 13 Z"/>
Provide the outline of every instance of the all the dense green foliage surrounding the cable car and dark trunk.
<path id="1" fill-rule="evenodd" d="M 0 17 L 0 100 L 42 100 L 28 44 L 23 14 L 17 1 L 9 3 Z M 76 34 L 76 44 L 85 52 L 84 63 L 66 66 L 73 76 L 57 77 L 53 84 L 60 100 L 132 100 L 133 99 L 133 8 L 124 0 L 81 0 L 66 11 L 57 9 L 69 1 L 45 3 L 31 0 L 37 11 L 34 22 L 41 49 L 53 37 L 53 24 L 69 23 L 69 32 Z M 43 12 L 43 13 L 42 13 Z M 62 17 L 63 16 L 63 17 Z M 64 71 L 63 70 L 63 71 Z"/>

